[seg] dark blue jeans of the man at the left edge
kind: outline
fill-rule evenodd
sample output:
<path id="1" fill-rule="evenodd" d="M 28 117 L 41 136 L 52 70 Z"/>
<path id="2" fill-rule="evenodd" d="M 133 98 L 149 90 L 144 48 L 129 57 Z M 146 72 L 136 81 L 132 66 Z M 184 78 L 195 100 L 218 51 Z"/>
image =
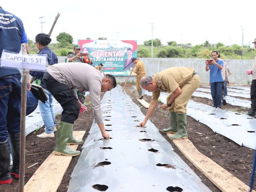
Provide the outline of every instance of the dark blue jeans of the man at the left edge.
<path id="1" fill-rule="evenodd" d="M 21 75 L 0 78 L 0 142 L 20 132 Z"/>

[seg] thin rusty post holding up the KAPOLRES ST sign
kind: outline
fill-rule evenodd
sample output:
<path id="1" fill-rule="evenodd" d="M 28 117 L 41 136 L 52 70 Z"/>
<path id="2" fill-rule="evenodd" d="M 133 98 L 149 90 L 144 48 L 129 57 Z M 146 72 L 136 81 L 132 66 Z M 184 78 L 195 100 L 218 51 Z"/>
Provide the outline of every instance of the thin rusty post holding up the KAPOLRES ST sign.
<path id="1" fill-rule="evenodd" d="M 22 44 L 22 54 L 27 54 L 25 44 Z M 26 148 L 26 108 L 27 108 L 27 80 L 28 69 L 21 69 L 21 83 L 22 83 L 22 96 L 21 96 L 21 111 L 20 111 L 20 149 L 19 149 L 19 192 L 24 191 L 24 178 L 25 178 L 25 148 Z"/>

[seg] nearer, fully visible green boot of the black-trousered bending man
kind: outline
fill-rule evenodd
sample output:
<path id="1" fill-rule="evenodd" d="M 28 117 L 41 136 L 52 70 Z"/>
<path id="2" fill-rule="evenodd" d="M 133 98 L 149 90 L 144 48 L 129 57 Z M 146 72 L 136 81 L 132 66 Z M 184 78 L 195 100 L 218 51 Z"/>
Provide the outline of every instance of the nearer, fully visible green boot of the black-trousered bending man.
<path id="1" fill-rule="evenodd" d="M 59 122 L 57 130 L 56 146 L 54 149 L 55 155 L 77 156 L 80 155 L 80 151 L 75 151 L 68 147 L 67 141 L 72 134 L 73 124 L 66 122 Z"/>

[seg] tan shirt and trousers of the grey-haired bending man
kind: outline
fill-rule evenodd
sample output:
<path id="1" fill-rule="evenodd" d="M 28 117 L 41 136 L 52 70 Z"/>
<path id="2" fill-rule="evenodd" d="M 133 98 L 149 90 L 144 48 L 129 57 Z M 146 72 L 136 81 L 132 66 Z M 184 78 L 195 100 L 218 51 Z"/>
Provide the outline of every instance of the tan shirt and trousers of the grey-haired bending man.
<path id="1" fill-rule="evenodd" d="M 158 89 L 152 92 L 152 100 L 158 100 L 161 91 L 166 90 L 170 92 L 166 99 L 168 102 L 173 92 L 177 87 L 180 87 L 182 93 L 175 98 L 171 107 L 167 109 L 169 112 L 185 114 L 189 99 L 200 85 L 200 77 L 195 72 L 192 67 L 171 67 L 156 73 L 153 78 L 157 83 Z"/>

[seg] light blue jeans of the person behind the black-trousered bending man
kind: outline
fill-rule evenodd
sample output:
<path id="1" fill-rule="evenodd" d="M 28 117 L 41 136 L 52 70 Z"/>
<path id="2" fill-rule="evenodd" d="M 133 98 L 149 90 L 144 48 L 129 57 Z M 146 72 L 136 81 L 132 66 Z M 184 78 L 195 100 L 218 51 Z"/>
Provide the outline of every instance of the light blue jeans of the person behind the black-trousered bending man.
<path id="1" fill-rule="evenodd" d="M 48 100 L 45 103 L 38 101 L 39 109 L 41 111 L 41 116 L 44 121 L 45 132 L 52 133 L 53 127 L 56 125 L 53 111 L 53 95 L 47 89 L 44 89 L 44 92 Z"/>

